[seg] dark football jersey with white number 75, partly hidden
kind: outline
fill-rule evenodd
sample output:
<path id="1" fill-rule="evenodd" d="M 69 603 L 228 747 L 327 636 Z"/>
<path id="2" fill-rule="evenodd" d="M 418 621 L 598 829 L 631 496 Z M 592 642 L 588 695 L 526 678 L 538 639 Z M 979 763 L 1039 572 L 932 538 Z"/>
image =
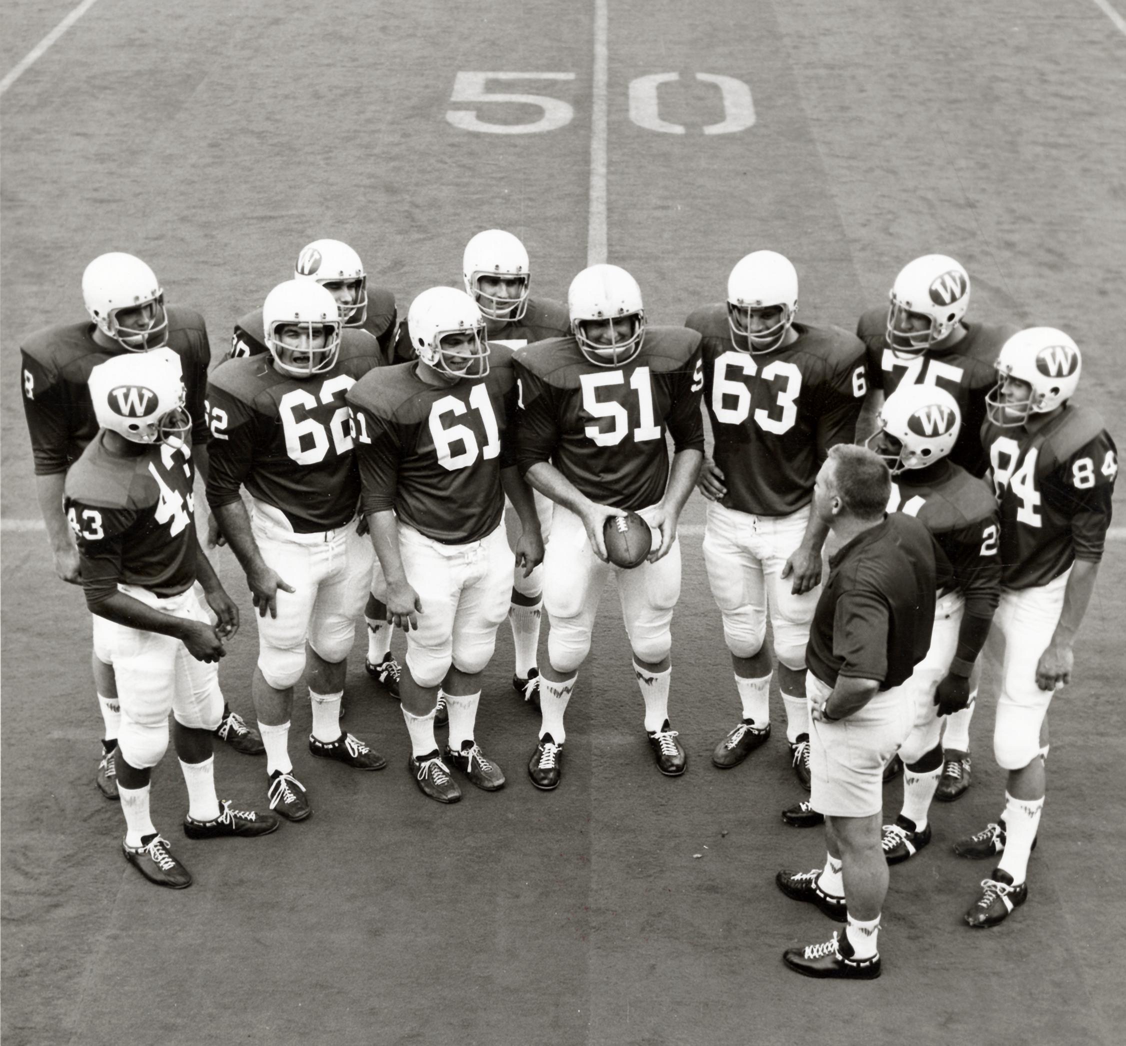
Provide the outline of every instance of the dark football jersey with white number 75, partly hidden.
<path id="1" fill-rule="evenodd" d="M 993 365 L 1001 346 L 1017 333 L 1016 327 L 963 323 L 965 337 L 942 352 L 929 351 L 912 359 L 896 356 L 887 347 L 887 310 L 872 309 L 860 316 L 857 336 L 868 351 L 868 383 L 890 396 L 903 382 L 945 388 L 962 410 L 962 431 L 950 452 L 955 465 L 984 476 L 989 455 L 981 445 L 985 420 L 985 393 L 997 384 Z"/>

